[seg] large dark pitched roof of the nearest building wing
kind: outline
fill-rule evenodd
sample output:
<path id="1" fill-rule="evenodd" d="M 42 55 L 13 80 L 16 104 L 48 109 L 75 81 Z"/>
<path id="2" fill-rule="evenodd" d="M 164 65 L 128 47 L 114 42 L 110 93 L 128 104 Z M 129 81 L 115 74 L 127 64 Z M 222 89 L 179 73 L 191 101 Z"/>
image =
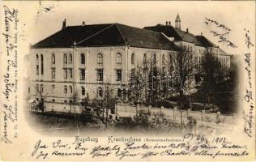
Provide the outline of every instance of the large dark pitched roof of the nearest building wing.
<path id="1" fill-rule="evenodd" d="M 149 49 L 178 50 L 177 46 L 160 32 L 120 23 L 67 27 L 32 45 L 32 48 L 71 47 L 74 42 L 77 46 L 130 45 Z"/>

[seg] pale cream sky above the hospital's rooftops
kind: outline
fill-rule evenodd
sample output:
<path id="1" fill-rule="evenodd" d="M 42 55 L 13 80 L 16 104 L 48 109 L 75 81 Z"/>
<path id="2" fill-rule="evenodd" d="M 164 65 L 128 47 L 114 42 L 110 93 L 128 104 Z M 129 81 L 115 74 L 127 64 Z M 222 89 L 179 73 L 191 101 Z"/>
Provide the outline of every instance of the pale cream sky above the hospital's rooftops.
<path id="1" fill-rule="evenodd" d="M 245 50 L 245 31 L 250 30 L 251 39 L 255 40 L 255 2 L 15 2 L 19 6 L 20 20 L 23 23 L 23 35 L 27 44 L 35 44 L 39 40 L 58 32 L 62 21 L 66 26 L 97 23 L 123 23 L 143 28 L 158 23 L 171 21 L 175 24 L 177 14 L 181 18 L 181 29 L 194 35 L 207 36 L 215 45 L 231 54 Z M 50 9 L 49 11 L 46 8 Z M 207 25 L 205 19 L 213 19 L 232 29 L 227 35 L 237 48 L 228 47 L 210 31 L 224 33 L 224 30 Z"/>

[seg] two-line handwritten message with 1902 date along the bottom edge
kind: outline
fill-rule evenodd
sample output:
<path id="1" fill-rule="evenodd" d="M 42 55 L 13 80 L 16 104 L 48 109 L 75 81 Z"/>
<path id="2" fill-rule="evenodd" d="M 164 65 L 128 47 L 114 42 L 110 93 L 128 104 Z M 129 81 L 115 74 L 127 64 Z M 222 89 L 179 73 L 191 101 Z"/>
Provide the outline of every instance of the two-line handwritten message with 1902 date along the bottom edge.
<path id="1" fill-rule="evenodd" d="M 246 145 L 233 143 L 225 137 L 207 139 L 202 134 L 185 134 L 181 140 L 168 143 L 146 143 L 143 138 L 139 142 L 108 144 L 86 143 L 76 139 L 74 143 L 66 143 L 62 139 L 52 143 L 39 140 L 31 156 L 37 160 L 47 160 L 53 156 L 86 156 L 95 160 L 109 156 L 117 160 L 151 156 L 208 156 L 216 159 L 222 156 L 249 156 L 249 152 Z"/>

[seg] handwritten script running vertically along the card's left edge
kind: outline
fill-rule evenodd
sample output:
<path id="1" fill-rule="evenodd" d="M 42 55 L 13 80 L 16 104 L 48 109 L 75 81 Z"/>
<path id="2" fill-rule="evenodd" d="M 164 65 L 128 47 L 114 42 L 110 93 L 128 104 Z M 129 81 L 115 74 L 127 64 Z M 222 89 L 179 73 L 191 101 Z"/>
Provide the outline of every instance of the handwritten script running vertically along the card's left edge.
<path id="1" fill-rule="evenodd" d="M 3 73 L 3 85 L 1 115 L 3 114 L 3 126 L 1 127 L 1 140 L 4 143 L 12 143 L 11 139 L 17 138 L 17 56 L 18 56 L 18 11 L 8 6 L 2 6 L 4 12 L 4 40 L 5 49 L 2 49 L 6 68 L 1 66 Z M 1 116 L 2 117 L 2 116 Z"/>

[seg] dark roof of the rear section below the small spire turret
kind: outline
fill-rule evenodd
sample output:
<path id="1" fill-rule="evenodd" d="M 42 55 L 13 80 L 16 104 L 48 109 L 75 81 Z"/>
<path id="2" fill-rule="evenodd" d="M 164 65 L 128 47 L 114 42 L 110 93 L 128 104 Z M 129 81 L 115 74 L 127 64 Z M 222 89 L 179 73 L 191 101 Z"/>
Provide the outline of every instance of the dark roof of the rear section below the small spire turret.
<path id="1" fill-rule="evenodd" d="M 155 32 L 163 32 L 168 37 L 174 37 L 174 40 L 184 40 L 186 42 L 194 43 L 194 35 L 190 32 L 184 32 L 171 25 L 158 24 L 152 27 L 145 27 L 147 30 Z"/>

